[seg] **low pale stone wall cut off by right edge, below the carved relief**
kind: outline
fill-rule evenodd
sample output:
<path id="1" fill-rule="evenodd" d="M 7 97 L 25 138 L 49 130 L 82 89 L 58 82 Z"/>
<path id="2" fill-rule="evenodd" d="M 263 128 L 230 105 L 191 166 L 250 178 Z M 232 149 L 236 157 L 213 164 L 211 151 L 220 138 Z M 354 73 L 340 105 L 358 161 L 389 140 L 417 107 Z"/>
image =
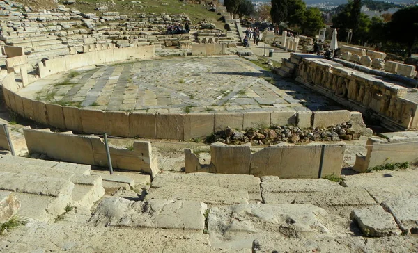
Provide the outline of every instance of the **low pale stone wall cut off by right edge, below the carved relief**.
<path id="1" fill-rule="evenodd" d="M 418 132 L 389 134 L 391 137 L 387 140 L 369 138 L 366 142 L 367 153 L 356 154 L 353 170 L 366 172 L 387 163 L 418 163 Z"/>

